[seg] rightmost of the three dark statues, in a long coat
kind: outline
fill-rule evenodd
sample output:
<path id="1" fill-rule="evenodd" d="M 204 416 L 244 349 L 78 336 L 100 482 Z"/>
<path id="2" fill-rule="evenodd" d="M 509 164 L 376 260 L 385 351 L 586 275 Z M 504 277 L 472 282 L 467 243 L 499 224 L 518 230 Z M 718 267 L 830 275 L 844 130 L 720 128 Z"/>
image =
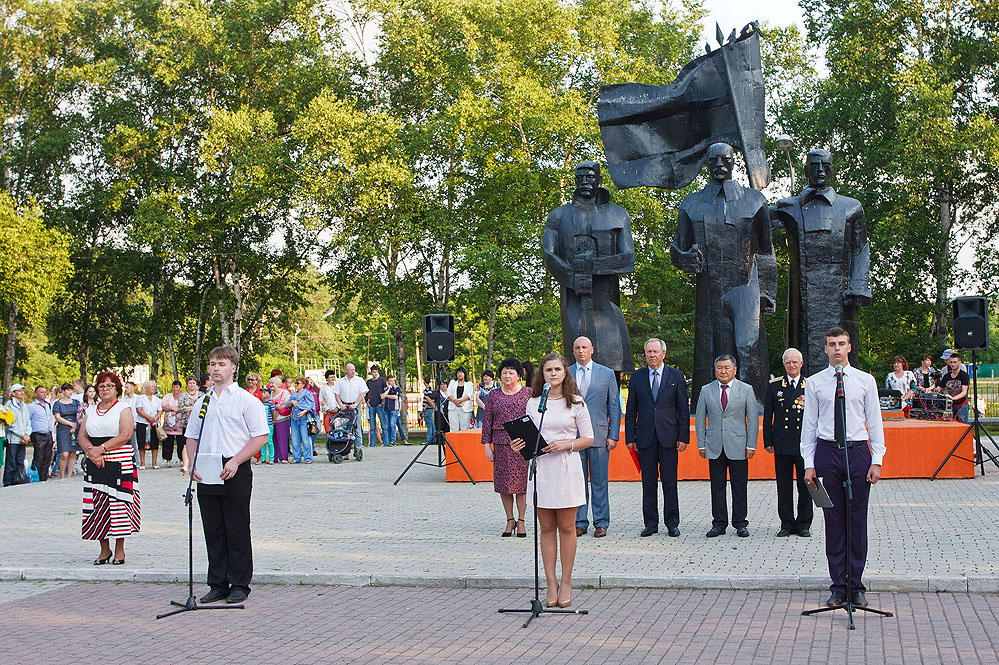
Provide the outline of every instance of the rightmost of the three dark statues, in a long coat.
<path id="1" fill-rule="evenodd" d="M 832 154 L 812 150 L 805 162 L 808 186 L 801 196 L 777 202 L 770 212 L 787 235 L 787 345 L 804 356 L 805 376 L 829 366 L 827 330 L 842 326 L 860 339 L 858 308 L 871 303 L 871 246 L 864 208 L 832 188 Z M 859 345 L 850 352 L 857 367 Z"/>

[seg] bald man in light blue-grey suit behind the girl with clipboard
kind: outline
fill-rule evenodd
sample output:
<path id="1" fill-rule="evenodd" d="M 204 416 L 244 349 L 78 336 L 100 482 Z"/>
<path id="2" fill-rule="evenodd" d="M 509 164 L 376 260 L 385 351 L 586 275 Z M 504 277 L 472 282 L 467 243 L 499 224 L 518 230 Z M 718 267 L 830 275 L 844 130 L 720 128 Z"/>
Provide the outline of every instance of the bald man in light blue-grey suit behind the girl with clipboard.
<path id="1" fill-rule="evenodd" d="M 610 451 L 617 447 L 621 432 L 621 398 L 618 395 L 614 370 L 593 362 L 593 342 L 577 337 L 572 343 L 576 363 L 569 368 L 590 411 L 593 425 L 593 445 L 579 451 L 586 484 L 586 503 L 576 511 L 576 536 L 586 533 L 588 505 L 593 507 L 593 536 L 603 538 L 610 524 L 610 504 L 607 501 L 607 468 Z"/>

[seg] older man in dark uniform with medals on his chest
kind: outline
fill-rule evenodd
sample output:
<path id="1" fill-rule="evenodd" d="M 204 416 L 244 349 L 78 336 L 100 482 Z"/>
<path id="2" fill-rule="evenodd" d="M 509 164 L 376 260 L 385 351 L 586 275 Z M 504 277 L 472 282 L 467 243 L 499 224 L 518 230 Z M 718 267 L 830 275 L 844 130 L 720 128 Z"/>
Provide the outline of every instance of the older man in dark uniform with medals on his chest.
<path id="1" fill-rule="evenodd" d="M 779 538 L 812 535 L 812 499 L 805 487 L 805 461 L 801 457 L 801 415 L 805 410 L 805 377 L 798 349 L 784 352 L 784 376 L 770 382 L 763 403 L 763 447 L 774 455 L 777 476 Z M 794 516 L 794 479 L 798 479 L 798 516 Z"/>

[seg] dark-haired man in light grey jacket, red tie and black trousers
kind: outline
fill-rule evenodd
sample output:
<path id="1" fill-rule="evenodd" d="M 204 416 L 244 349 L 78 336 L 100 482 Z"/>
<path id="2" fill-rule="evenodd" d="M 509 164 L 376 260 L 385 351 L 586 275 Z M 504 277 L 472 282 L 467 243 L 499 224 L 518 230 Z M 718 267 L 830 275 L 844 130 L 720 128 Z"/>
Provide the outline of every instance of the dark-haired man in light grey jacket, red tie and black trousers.
<path id="1" fill-rule="evenodd" d="M 752 386 L 735 378 L 735 358 L 715 358 L 716 381 L 704 386 L 697 399 L 694 429 L 697 452 L 708 459 L 711 477 L 711 530 L 708 538 L 725 533 L 728 503 L 725 476 L 732 480 L 732 526 L 740 538 L 749 535 L 746 519 L 749 459 L 756 454 L 759 407 Z"/>

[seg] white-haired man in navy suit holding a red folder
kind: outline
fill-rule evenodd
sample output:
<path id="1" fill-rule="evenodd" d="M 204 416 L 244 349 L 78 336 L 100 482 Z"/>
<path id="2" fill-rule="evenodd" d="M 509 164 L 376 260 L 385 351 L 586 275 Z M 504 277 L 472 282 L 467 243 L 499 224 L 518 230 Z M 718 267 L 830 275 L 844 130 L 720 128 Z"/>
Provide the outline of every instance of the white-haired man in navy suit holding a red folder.
<path id="1" fill-rule="evenodd" d="M 662 480 L 663 522 L 669 535 L 680 535 L 680 503 L 676 492 L 677 455 L 690 442 L 690 405 L 683 372 L 663 365 L 666 343 L 645 343 L 648 367 L 631 375 L 624 416 L 628 450 L 638 449 L 642 467 L 642 537 L 659 532 L 657 480 Z"/>

